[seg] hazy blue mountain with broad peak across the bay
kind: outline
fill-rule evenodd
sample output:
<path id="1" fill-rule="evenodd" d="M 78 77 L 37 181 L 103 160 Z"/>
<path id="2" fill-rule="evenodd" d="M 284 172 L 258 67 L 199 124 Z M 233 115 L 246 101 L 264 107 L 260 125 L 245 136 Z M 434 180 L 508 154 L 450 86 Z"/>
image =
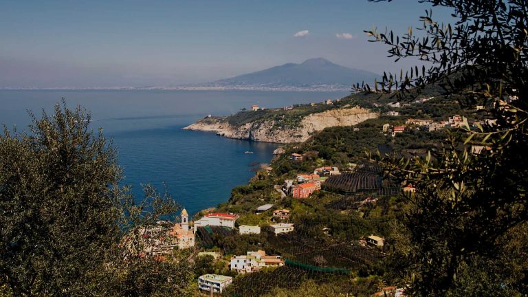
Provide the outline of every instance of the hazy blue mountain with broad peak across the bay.
<path id="1" fill-rule="evenodd" d="M 380 76 L 331 63 L 325 58 L 311 58 L 303 63 L 287 63 L 259 72 L 217 80 L 210 87 L 262 89 L 347 89 L 355 83 L 373 83 Z"/>

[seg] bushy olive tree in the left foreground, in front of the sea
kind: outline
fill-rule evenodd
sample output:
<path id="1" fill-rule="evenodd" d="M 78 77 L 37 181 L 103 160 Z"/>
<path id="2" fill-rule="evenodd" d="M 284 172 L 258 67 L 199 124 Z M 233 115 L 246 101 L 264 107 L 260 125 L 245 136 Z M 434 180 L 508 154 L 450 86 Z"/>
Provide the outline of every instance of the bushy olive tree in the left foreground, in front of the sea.
<path id="1" fill-rule="evenodd" d="M 124 261 L 120 245 L 133 228 L 175 212 L 172 197 L 147 187 L 134 203 L 119 186 L 115 148 L 89 129 L 85 109 L 63 101 L 53 115 L 31 116 L 28 132 L 0 136 L 0 284 L 14 296 L 139 296 L 148 286 L 127 278 L 160 276 L 154 292 L 168 277 L 185 278 L 170 261 Z"/>

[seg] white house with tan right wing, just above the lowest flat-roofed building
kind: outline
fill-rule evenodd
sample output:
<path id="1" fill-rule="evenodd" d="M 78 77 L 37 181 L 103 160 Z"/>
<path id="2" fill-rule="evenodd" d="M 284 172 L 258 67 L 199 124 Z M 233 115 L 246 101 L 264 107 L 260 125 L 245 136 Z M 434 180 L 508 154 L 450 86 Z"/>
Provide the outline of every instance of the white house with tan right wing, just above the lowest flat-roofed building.
<path id="1" fill-rule="evenodd" d="M 263 250 L 248 252 L 243 256 L 231 257 L 230 268 L 241 274 L 256 272 L 262 267 L 283 266 L 281 256 L 266 256 Z"/>

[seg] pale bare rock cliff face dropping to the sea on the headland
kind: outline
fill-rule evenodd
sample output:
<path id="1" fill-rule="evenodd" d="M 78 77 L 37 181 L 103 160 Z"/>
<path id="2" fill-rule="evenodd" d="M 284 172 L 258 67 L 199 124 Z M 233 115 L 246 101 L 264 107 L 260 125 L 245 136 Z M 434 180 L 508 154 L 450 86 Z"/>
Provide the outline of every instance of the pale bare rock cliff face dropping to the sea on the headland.
<path id="1" fill-rule="evenodd" d="M 377 113 L 369 109 L 354 107 L 311 113 L 303 118 L 296 128 L 278 129 L 274 120 L 233 126 L 225 118 L 214 118 L 199 120 L 186 126 L 184 130 L 210 131 L 224 137 L 259 142 L 292 143 L 307 140 L 314 131 L 321 131 L 331 126 L 352 126 L 377 116 Z"/>

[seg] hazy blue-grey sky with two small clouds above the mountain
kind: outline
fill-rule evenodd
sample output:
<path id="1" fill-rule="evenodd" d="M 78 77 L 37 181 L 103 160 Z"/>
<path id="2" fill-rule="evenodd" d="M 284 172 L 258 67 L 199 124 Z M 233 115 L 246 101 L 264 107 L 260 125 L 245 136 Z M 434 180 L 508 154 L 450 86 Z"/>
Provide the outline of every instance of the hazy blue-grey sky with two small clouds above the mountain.
<path id="1" fill-rule="evenodd" d="M 0 87 L 146 87 L 205 83 L 323 57 L 382 73 L 388 47 L 363 30 L 404 34 L 417 0 L 0 0 Z M 452 21 L 450 11 L 433 16 Z"/>

